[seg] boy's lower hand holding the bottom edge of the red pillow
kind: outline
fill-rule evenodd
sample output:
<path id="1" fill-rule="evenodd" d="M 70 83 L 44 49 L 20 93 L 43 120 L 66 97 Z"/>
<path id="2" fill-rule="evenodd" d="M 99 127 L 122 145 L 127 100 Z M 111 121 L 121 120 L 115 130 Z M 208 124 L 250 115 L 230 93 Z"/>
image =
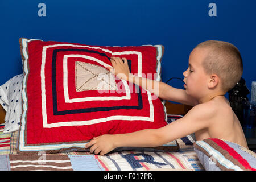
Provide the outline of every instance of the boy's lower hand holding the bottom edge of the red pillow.
<path id="1" fill-rule="evenodd" d="M 90 147 L 90 153 L 104 155 L 114 150 L 113 135 L 101 135 L 94 137 L 90 142 L 86 143 L 85 148 Z"/>

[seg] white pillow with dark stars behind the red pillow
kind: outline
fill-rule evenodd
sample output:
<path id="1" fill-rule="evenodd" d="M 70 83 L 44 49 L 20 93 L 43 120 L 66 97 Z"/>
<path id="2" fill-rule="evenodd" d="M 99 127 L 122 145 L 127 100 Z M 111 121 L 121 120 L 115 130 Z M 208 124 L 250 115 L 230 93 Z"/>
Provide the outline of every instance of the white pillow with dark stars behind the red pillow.
<path id="1" fill-rule="evenodd" d="M 4 133 L 19 130 L 22 115 L 22 82 L 23 73 L 0 86 L 0 104 L 6 110 Z"/>

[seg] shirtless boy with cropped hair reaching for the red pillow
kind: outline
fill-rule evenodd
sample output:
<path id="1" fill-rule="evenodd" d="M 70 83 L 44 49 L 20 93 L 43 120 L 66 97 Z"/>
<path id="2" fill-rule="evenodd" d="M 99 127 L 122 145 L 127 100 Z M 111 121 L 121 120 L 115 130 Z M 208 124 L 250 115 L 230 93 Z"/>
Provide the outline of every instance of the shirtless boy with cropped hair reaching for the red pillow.
<path id="1" fill-rule="evenodd" d="M 247 147 L 245 135 L 225 93 L 232 89 L 242 76 L 242 58 L 238 49 L 228 42 L 209 40 L 197 45 L 189 55 L 189 67 L 183 73 L 184 87 L 176 89 L 158 82 L 159 90 L 147 88 L 149 81 L 130 74 L 127 59 L 112 57 L 115 75 L 123 75 L 163 100 L 194 106 L 177 121 L 159 129 L 145 129 L 127 134 L 102 135 L 86 144 L 90 152 L 104 155 L 116 147 L 161 146 L 177 138 L 195 133 L 196 140 L 220 138 Z M 122 74 L 120 74 L 122 73 Z M 154 80 L 152 84 L 154 85 Z"/>

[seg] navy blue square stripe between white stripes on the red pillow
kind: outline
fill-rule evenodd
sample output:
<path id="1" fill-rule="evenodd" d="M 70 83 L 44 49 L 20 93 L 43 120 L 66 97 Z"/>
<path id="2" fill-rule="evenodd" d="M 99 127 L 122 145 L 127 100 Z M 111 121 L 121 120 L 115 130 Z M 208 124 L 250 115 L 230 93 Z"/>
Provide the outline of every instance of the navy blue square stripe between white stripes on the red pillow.
<path id="1" fill-rule="evenodd" d="M 57 110 L 57 86 L 56 86 L 56 59 L 57 59 L 57 52 L 64 52 L 64 51 L 80 51 L 80 52 L 90 52 L 90 53 L 97 53 L 98 55 L 104 56 L 110 60 L 105 53 L 100 53 L 94 50 L 87 50 L 87 49 L 55 49 L 52 53 L 52 101 L 53 101 L 53 115 L 64 115 L 64 114 L 79 114 L 79 113 L 89 113 L 89 112 L 96 112 L 96 111 L 109 111 L 109 110 L 119 110 L 119 109 L 137 109 L 140 110 L 143 108 L 142 103 L 142 95 L 141 95 L 141 88 L 138 85 L 133 84 L 137 90 L 138 96 L 138 106 L 113 106 L 113 107 L 93 107 L 93 108 L 86 108 L 86 109 L 73 109 L 73 110 Z M 128 66 L 131 72 L 131 60 L 127 60 Z"/>

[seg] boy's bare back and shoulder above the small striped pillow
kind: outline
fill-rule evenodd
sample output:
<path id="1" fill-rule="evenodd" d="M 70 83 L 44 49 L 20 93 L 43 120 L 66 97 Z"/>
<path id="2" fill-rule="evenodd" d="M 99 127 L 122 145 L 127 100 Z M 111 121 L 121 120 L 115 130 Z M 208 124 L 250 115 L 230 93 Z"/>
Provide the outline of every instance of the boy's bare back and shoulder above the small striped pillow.
<path id="1" fill-rule="evenodd" d="M 205 109 L 207 109 L 209 114 L 209 119 L 204 120 L 204 122 L 209 122 L 209 127 L 196 131 L 196 140 L 220 138 L 248 148 L 240 121 L 224 96 L 214 97 L 195 109 L 198 114 L 205 114 Z"/>

